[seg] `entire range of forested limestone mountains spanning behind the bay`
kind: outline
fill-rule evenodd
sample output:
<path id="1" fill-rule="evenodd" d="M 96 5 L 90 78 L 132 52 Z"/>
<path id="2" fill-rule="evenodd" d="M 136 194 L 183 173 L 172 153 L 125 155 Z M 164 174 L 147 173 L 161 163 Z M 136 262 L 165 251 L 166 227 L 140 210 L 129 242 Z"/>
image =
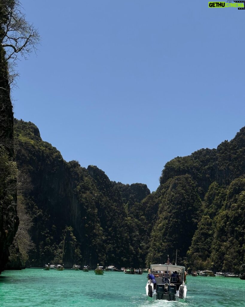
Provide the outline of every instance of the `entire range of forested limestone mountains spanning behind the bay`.
<path id="1" fill-rule="evenodd" d="M 178 250 L 177 263 L 189 268 L 239 270 L 245 261 L 244 133 L 217 150 L 169 161 L 150 193 L 144 184 L 110 181 L 94 165 L 64 161 L 34 124 L 15 120 L 17 165 L 31 183 L 22 196 L 35 225 L 32 265 L 143 267 L 167 255 L 175 262 Z M 233 166 L 224 172 L 226 150 Z"/>

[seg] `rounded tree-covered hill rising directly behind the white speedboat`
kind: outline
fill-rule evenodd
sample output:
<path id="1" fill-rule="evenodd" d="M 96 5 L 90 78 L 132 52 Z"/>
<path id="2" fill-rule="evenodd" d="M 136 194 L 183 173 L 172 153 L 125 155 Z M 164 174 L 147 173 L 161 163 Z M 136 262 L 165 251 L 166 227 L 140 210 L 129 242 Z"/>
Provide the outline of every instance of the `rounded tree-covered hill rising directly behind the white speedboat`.
<path id="1" fill-rule="evenodd" d="M 151 241 L 146 262 L 164 263 L 166 255 L 185 257 L 197 228 L 202 203 L 190 175 L 169 179 L 161 187 L 158 219 L 151 224 Z"/>

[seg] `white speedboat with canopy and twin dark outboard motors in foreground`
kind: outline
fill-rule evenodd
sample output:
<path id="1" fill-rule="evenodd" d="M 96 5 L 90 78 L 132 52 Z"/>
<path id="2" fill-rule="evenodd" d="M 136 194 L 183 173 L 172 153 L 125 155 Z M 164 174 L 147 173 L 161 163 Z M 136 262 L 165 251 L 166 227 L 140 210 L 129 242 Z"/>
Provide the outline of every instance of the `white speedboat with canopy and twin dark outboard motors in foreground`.
<path id="1" fill-rule="evenodd" d="M 156 288 L 151 279 L 148 280 L 145 290 L 147 299 L 184 302 L 187 287 L 185 284 L 185 267 L 172 264 L 151 264 L 151 273 L 155 276 Z M 172 272 L 177 271 L 178 277 L 172 277 Z"/>

